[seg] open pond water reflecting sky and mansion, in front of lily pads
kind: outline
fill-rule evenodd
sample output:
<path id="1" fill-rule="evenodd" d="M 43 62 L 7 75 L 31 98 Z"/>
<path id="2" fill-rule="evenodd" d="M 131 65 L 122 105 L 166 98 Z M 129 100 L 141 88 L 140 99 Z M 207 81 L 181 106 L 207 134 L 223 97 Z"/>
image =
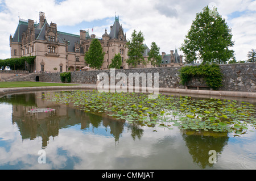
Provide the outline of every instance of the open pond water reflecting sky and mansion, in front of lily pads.
<path id="1" fill-rule="evenodd" d="M 85 112 L 47 94 L 0 98 L 0 169 L 256 169 L 255 127 L 239 135 L 168 129 Z"/>

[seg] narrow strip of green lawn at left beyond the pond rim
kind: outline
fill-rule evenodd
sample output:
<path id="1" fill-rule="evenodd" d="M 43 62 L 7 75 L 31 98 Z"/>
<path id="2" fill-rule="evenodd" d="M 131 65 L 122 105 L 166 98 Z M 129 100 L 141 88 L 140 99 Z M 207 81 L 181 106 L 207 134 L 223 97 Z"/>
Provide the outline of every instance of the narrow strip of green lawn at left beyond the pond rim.
<path id="1" fill-rule="evenodd" d="M 9 88 L 9 87 L 46 87 L 46 86 L 77 86 L 77 84 L 48 83 L 48 82 L 0 82 L 0 88 Z"/>

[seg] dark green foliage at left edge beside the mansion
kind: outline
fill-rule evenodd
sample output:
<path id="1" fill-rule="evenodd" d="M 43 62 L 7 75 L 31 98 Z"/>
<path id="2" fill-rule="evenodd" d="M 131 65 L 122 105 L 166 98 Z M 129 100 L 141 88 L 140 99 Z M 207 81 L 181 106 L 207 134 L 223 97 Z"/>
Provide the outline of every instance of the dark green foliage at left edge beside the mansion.
<path id="1" fill-rule="evenodd" d="M 20 57 L 20 58 L 8 58 L 5 60 L 0 60 L 0 69 L 4 69 L 6 66 L 10 66 L 11 70 L 25 70 L 25 62 L 27 64 L 34 64 L 35 57 Z"/>

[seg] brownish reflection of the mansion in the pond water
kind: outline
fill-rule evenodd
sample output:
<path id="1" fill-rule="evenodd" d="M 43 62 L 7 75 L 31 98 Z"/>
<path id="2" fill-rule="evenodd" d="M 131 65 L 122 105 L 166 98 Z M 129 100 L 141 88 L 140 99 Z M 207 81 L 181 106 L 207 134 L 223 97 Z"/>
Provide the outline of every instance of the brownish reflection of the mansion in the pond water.
<path id="1" fill-rule="evenodd" d="M 30 100 L 28 106 L 13 104 L 13 124 L 18 125 L 22 140 L 42 137 L 42 148 L 46 148 L 49 137 L 59 136 L 60 129 L 75 125 L 80 125 L 81 130 L 103 126 L 106 132 L 112 134 L 115 141 L 119 140 L 123 132 L 124 121 L 115 121 L 103 115 L 86 113 L 73 108 L 72 104 L 56 104 L 38 98 L 43 94 L 44 92 L 36 92 L 35 96 L 26 94 L 26 99 Z M 35 100 L 34 103 L 32 99 Z M 31 113 L 30 111 L 35 108 L 51 108 L 55 111 Z M 134 128 L 133 130 L 135 131 Z"/>

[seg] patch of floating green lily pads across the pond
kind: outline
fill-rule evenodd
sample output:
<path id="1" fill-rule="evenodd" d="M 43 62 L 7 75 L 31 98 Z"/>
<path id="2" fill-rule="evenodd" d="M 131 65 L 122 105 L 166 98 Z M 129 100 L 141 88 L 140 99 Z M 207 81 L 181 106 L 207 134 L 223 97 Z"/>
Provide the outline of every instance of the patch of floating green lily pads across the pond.
<path id="1" fill-rule="evenodd" d="M 47 97 L 46 97 L 47 99 Z M 160 125 L 196 131 L 242 132 L 256 127 L 253 104 L 239 105 L 236 100 L 192 99 L 188 96 L 159 95 L 148 99 L 143 93 L 93 91 L 63 91 L 49 97 L 57 103 L 73 103 L 80 110 L 92 113 L 108 112 L 117 120 L 143 125 Z M 166 124 L 168 123 L 168 124 Z M 238 126 L 239 125 L 239 126 Z M 171 129 L 170 129 L 171 130 Z"/>

